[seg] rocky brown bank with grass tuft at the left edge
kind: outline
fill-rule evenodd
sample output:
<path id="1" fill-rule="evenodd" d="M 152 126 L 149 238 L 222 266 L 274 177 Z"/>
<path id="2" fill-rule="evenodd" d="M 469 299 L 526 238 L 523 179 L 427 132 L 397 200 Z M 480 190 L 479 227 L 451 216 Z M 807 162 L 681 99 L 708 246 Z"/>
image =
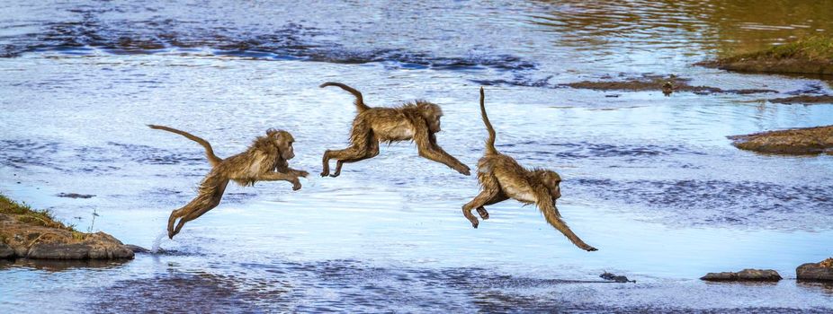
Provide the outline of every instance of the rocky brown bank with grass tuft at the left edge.
<path id="1" fill-rule="evenodd" d="M 133 258 L 133 251 L 104 232 L 84 233 L 0 196 L 0 258 Z"/>

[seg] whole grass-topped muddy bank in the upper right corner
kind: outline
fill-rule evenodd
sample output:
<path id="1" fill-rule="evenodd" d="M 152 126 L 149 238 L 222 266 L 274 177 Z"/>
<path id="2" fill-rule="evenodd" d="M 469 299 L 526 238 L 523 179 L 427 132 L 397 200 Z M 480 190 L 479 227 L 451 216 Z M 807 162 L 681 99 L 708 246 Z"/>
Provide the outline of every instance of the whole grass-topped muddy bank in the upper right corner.
<path id="1" fill-rule="evenodd" d="M 833 74 L 833 39 L 811 37 L 694 65 L 737 72 Z"/>

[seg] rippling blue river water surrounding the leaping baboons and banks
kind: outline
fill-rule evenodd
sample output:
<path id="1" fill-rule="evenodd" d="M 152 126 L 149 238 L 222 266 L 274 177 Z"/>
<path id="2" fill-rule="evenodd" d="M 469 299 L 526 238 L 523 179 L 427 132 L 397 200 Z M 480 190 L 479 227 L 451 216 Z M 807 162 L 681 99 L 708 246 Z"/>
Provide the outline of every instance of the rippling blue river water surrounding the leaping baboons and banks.
<path id="1" fill-rule="evenodd" d="M 439 143 L 474 166 L 477 88 L 492 83 L 497 148 L 559 171 L 560 212 L 599 251 L 515 202 L 472 229 L 460 206 L 476 179 L 393 144 L 298 192 L 229 186 L 156 255 L 5 263 L 0 311 L 40 312 L 45 298 L 56 311 L 829 311 L 833 287 L 790 279 L 833 253 L 833 156 L 748 153 L 725 137 L 833 124 L 831 105 L 766 101 L 829 81 L 691 65 L 829 32 L 828 4 L 782 3 L 4 4 L 0 192 L 80 230 L 95 210 L 93 231 L 150 248 L 193 197 L 200 146 L 145 124 L 192 131 L 219 156 L 287 129 L 292 167 L 315 174 L 354 115 L 348 94 L 318 88 L 339 81 L 375 106 L 440 104 Z M 560 87 L 643 74 L 778 93 Z M 788 279 L 696 279 L 746 267 Z M 604 271 L 637 283 L 591 283 Z"/>

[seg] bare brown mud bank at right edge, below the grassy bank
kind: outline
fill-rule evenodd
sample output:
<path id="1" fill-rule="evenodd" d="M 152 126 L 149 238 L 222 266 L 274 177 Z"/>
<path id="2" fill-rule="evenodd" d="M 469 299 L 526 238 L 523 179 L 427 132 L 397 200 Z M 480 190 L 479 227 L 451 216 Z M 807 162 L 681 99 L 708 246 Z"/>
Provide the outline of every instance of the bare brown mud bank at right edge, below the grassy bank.
<path id="1" fill-rule="evenodd" d="M 793 128 L 751 135 L 729 136 L 739 149 L 758 153 L 833 153 L 833 126 Z"/>

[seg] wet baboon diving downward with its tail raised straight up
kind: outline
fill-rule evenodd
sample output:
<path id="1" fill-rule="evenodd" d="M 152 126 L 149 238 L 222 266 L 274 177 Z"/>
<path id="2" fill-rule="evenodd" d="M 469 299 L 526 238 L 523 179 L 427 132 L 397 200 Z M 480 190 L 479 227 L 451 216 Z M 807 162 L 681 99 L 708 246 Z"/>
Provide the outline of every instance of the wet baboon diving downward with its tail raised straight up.
<path id="1" fill-rule="evenodd" d="M 551 170 L 526 170 L 512 157 L 497 152 L 495 129 L 492 128 L 486 116 L 484 98 L 481 87 L 480 115 L 488 130 L 486 153 L 478 161 L 478 180 L 482 190 L 478 196 L 462 206 L 462 214 L 469 219 L 474 228 L 477 228 L 479 222 L 471 214 L 472 209 L 477 208 L 480 217 L 488 219 L 488 212 L 483 207 L 484 205 L 503 202 L 512 197 L 524 204 L 537 205 L 547 222 L 564 233 L 578 248 L 595 251 L 596 248 L 578 239 L 578 236 L 569 230 L 567 223 L 561 221 L 561 215 L 555 206 L 555 201 L 561 196 L 559 174 Z"/>

